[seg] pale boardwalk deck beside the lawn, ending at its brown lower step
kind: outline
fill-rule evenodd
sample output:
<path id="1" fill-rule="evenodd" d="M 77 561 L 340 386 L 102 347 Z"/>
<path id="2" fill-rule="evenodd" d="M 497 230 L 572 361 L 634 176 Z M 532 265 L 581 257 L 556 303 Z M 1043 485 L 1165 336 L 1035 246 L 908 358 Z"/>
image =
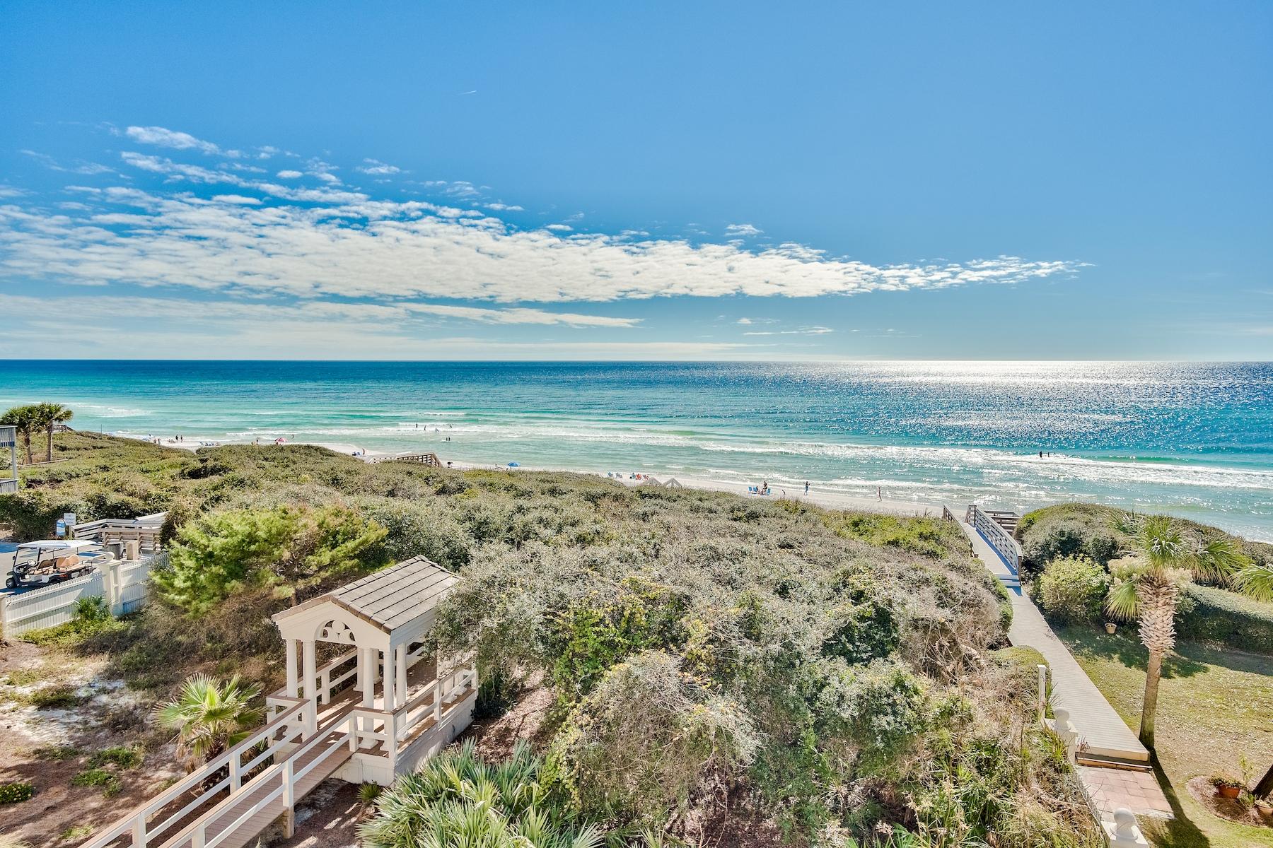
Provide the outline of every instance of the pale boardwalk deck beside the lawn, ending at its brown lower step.
<path id="1" fill-rule="evenodd" d="M 1012 600 L 1012 627 L 1008 628 L 1008 641 L 1035 648 L 1048 661 L 1053 709 L 1069 711 L 1069 721 L 1078 731 L 1083 753 L 1147 768 L 1150 751 L 1127 722 L 1114 712 L 1114 707 L 1078 665 L 1069 648 L 1051 632 L 1043 613 L 1022 591 L 1016 572 L 971 525 L 966 521 L 959 524 L 973 543 L 978 558 L 1008 590 L 1008 598 Z"/>

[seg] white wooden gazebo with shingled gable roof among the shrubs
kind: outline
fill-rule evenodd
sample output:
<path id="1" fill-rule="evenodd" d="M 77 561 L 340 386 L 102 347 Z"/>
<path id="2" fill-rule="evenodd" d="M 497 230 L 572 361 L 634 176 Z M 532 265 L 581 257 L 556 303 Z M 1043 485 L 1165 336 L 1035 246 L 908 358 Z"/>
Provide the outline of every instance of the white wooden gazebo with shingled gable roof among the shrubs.
<path id="1" fill-rule="evenodd" d="M 311 732 L 353 716 L 356 748 L 337 777 L 388 784 L 468 726 L 475 662 L 426 650 L 454 584 L 449 571 L 415 557 L 274 615 L 286 685 L 267 703 L 280 712 L 308 702 Z M 323 642 L 349 650 L 320 665 Z"/>

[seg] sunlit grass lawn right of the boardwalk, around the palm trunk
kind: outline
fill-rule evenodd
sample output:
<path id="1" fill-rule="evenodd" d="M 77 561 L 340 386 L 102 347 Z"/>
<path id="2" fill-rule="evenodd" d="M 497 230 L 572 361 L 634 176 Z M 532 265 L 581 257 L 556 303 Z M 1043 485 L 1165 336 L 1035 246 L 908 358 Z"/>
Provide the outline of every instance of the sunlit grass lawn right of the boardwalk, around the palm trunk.
<path id="1" fill-rule="evenodd" d="M 1058 628 L 1078 664 L 1123 720 L 1141 723 L 1146 651 L 1134 628 L 1110 636 Z M 1204 810 L 1185 788 L 1198 774 L 1241 777 L 1242 754 L 1258 779 L 1273 763 L 1273 657 L 1181 642 L 1164 662 L 1158 690 L 1158 782 L 1176 820 L 1150 824 L 1158 848 L 1273 848 L 1273 828 L 1249 828 Z"/>

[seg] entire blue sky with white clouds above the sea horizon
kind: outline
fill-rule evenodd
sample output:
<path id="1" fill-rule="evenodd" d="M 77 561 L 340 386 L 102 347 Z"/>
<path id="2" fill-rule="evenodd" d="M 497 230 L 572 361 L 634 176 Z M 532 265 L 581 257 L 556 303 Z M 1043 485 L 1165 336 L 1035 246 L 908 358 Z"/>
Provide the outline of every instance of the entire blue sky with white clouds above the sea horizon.
<path id="1" fill-rule="evenodd" d="M 1269 4 L 0 10 L 0 356 L 1273 359 Z"/>

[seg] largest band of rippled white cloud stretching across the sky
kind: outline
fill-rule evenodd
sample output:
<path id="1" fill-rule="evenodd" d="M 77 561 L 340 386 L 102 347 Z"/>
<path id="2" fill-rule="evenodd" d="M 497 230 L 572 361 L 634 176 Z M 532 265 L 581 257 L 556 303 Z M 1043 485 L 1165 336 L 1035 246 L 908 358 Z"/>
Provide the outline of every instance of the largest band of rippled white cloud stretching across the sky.
<path id="1" fill-rule="evenodd" d="M 681 239 L 519 230 L 498 217 L 356 192 L 288 188 L 174 163 L 136 160 L 168 178 L 253 188 L 278 202 L 209 202 L 185 192 L 84 188 L 93 211 L 0 209 L 0 277 L 185 286 L 307 297 L 442 297 L 500 303 L 657 296 L 812 297 L 1015 284 L 1073 262 L 1002 256 L 872 266 L 801 244 L 746 250 Z M 117 224 L 94 214 L 125 211 Z"/>

